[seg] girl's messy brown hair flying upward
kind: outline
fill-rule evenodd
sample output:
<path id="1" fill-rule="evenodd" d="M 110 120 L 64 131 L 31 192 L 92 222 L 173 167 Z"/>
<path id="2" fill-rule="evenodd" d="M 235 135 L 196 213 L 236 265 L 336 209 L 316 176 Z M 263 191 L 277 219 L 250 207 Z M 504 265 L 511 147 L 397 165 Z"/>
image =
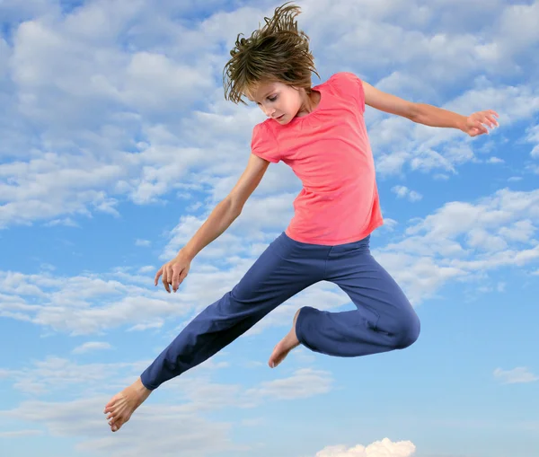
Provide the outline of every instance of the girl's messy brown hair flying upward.
<path id="1" fill-rule="evenodd" d="M 223 72 L 225 100 L 246 104 L 243 95 L 262 82 L 285 83 L 311 93 L 311 72 L 320 75 L 309 50 L 309 37 L 297 30 L 295 18 L 301 10 L 289 3 L 276 8 L 272 18 L 264 17 L 266 25 L 250 38 L 240 39 L 243 33 L 238 34 Z"/>

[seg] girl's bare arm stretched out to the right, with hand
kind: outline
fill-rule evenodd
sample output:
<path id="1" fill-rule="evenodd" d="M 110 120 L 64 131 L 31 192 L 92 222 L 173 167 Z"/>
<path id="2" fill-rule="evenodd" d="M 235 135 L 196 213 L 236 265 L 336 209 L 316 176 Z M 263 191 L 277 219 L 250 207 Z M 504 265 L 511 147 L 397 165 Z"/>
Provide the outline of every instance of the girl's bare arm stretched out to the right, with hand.
<path id="1" fill-rule="evenodd" d="M 418 124 L 429 127 L 458 128 L 469 136 L 488 134 L 489 130 L 485 126 L 491 128 L 499 126 L 496 119 L 499 115 L 493 110 L 474 112 L 466 117 L 425 103 L 403 100 L 391 93 L 382 92 L 365 81 L 362 83 L 366 105 L 376 108 L 376 110 L 411 119 Z"/>

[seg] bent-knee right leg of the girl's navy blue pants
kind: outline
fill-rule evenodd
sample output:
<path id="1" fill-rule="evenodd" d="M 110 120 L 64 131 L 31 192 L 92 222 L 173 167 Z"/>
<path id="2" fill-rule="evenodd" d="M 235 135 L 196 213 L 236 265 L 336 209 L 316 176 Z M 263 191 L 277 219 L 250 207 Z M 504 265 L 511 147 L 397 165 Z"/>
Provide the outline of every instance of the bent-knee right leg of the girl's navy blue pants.
<path id="1" fill-rule="evenodd" d="M 367 356 L 409 347 L 419 337 L 416 312 L 371 255 L 369 238 L 331 248 L 325 280 L 346 292 L 357 310 L 302 308 L 296 334 L 305 347 L 330 356 Z"/>

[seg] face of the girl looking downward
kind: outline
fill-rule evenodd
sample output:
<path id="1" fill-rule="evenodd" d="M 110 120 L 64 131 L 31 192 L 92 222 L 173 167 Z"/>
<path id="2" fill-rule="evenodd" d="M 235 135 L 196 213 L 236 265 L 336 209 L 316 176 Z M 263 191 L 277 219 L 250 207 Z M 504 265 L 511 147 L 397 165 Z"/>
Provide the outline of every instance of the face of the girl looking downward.
<path id="1" fill-rule="evenodd" d="M 285 125 L 301 110 L 304 98 L 302 92 L 284 83 L 260 83 L 248 95 L 264 114 Z"/>

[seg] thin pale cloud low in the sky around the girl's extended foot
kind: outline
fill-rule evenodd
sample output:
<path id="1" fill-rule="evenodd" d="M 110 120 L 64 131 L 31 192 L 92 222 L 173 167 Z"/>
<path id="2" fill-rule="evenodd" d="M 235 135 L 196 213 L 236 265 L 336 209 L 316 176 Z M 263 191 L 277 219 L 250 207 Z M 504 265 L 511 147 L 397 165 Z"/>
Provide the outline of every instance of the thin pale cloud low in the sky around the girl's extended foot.
<path id="1" fill-rule="evenodd" d="M 244 446 L 234 444 L 232 424 L 209 421 L 203 414 L 219 409 L 226 409 L 228 414 L 234 408 L 250 409 L 269 400 L 303 399 L 331 388 L 331 374 L 309 369 L 298 370 L 288 378 L 255 384 L 249 389 L 238 384 L 211 382 L 209 373 L 229 366 L 214 358 L 163 384 L 160 391 L 165 392 L 165 403 L 152 395 L 119 434 L 110 434 L 103 406 L 112 393 L 134 381 L 148 363 L 78 365 L 49 356 L 22 370 L 7 371 L 6 377 L 13 379 L 18 391 L 34 396 L 59 391 L 66 400 L 22 401 L 13 409 L 0 410 L 0 418 L 9 417 L 10 422 L 17 425 L 40 426 L 44 435 L 69 437 L 75 442 L 75 450 L 81 452 L 108 455 L 112 451 L 122 456 L 156 452 L 165 456 L 202 457 L 217 451 L 244 450 Z M 305 388 L 305 385 L 310 387 Z M 103 391 L 109 393 L 103 395 Z M 68 400 L 70 398 L 73 400 Z M 180 432 L 178 424 L 182 424 Z M 22 432 L 8 432 L 13 436 L 17 433 Z M 158 437 L 157 444 L 155 437 Z"/>

